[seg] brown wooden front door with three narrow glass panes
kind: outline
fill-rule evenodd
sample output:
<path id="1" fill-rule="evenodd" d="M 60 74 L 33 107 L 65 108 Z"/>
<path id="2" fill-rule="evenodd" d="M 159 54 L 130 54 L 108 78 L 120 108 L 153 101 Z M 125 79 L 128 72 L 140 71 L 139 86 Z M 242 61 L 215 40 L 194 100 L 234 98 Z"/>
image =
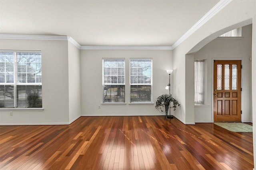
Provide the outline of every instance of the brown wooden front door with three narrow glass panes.
<path id="1" fill-rule="evenodd" d="M 241 61 L 214 61 L 214 122 L 241 121 Z"/>

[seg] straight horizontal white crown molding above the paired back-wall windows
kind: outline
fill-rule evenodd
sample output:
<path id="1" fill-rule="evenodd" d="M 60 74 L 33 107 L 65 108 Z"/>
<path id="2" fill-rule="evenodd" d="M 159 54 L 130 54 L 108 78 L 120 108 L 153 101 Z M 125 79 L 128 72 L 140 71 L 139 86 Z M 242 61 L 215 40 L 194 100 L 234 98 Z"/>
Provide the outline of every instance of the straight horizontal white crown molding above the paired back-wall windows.
<path id="1" fill-rule="evenodd" d="M 172 50 L 171 46 L 81 46 L 82 50 Z"/>

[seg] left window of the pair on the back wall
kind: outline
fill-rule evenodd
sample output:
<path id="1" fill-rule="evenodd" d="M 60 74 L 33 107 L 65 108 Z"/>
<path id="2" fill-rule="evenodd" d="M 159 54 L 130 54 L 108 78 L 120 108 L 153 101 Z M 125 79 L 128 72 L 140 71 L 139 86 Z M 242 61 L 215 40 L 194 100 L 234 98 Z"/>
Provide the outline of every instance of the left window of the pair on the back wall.
<path id="1" fill-rule="evenodd" d="M 103 103 L 125 102 L 124 59 L 102 59 Z"/>

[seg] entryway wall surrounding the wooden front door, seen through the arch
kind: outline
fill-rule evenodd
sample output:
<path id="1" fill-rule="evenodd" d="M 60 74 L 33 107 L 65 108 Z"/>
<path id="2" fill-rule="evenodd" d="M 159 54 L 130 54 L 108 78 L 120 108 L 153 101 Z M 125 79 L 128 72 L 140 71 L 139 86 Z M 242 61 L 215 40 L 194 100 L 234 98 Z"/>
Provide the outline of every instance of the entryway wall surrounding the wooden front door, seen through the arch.
<path id="1" fill-rule="evenodd" d="M 195 122 L 213 122 L 212 99 L 213 59 L 242 59 L 242 121 L 252 122 L 252 24 L 242 27 L 242 39 L 217 38 L 194 54 L 194 59 L 204 59 L 206 64 L 206 106 L 195 106 Z"/>

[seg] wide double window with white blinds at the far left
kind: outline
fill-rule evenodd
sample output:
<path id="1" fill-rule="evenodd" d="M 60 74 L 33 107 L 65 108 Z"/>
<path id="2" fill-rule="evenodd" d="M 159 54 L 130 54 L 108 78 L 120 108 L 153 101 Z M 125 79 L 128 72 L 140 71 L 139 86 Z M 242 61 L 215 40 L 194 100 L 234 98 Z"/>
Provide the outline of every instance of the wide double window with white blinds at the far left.
<path id="1" fill-rule="evenodd" d="M 0 107 L 42 107 L 40 51 L 0 51 Z"/>

